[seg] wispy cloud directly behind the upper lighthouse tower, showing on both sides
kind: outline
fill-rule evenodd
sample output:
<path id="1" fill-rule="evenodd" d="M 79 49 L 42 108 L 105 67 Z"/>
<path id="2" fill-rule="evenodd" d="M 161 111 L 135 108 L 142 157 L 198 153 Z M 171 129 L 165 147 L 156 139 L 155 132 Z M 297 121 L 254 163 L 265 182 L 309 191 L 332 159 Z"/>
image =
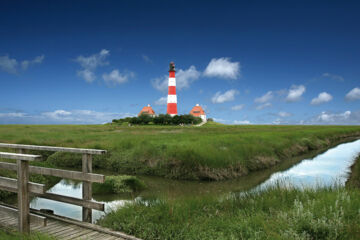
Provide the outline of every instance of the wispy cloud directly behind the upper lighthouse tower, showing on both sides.
<path id="1" fill-rule="evenodd" d="M 196 70 L 195 66 L 190 66 L 187 70 L 180 69 L 176 73 L 176 89 L 182 90 L 189 88 L 190 85 L 199 79 L 201 73 Z M 168 89 L 169 76 L 164 75 L 160 78 L 155 78 L 151 81 L 152 86 L 161 92 L 166 92 Z"/>

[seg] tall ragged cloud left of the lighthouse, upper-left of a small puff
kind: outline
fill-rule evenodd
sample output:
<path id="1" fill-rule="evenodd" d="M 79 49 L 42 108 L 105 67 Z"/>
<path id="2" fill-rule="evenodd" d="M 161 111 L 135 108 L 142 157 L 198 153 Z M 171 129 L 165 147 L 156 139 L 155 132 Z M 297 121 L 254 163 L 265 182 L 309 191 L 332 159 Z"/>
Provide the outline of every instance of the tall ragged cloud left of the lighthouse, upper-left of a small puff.
<path id="1" fill-rule="evenodd" d="M 110 55 L 110 51 L 102 49 L 99 53 L 84 57 L 82 55 L 75 59 L 82 67 L 78 70 L 77 75 L 82 77 L 86 82 L 93 82 L 96 79 L 95 70 L 99 66 L 108 65 L 106 58 Z"/>

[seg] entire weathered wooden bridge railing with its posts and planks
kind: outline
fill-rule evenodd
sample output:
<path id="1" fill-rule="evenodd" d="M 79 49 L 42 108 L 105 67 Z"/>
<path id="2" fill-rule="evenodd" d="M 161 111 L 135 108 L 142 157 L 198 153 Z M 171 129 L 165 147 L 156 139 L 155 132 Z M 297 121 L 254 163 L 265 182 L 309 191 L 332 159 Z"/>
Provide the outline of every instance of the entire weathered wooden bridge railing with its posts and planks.
<path id="1" fill-rule="evenodd" d="M 17 149 L 18 153 L 0 152 L 0 158 L 15 159 L 17 163 L 0 162 L 0 168 L 17 171 L 17 180 L 12 178 L 0 177 L 0 189 L 16 192 L 18 194 L 18 219 L 19 231 L 29 233 L 30 221 L 35 221 L 46 225 L 44 217 L 30 214 L 29 210 L 29 195 L 35 195 L 42 198 L 60 201 L 64 203 L 74 204 L 82 207 L 82 220 L 84 222 L 92 221 L 92 209 L 104 211 L 104 204 L 92 201 L 93 182 L 103 183 L 105 176 L 92 173 L 92 155 L 105 154 L 105 150 L 97 149 L 82 149 L 82 148 L 63 148 L 51 146 L 35 146 L 22 144 L 8 144 L 0 143 L 0 148 Z M 54 151 L 54 152 L 70 152 L 82 154 L 82 172 L 69 171 L 54 168 L 45 168 L 37 166 L 29 166 L 30 161 L 40 160 L 40 155 L 24 154 L 25 150 L 40 150 L 40 151 Z M 46 193 L 43 184 L 29 182 L 29 174 L 41 174 L 48 176 L 55 176 L 61 178 L 68 178 L 83 182 L 82 199 L 62 196 L 54 193 Z M 14 213 L 12 208 L 0 206 L 0 210 Z"/>

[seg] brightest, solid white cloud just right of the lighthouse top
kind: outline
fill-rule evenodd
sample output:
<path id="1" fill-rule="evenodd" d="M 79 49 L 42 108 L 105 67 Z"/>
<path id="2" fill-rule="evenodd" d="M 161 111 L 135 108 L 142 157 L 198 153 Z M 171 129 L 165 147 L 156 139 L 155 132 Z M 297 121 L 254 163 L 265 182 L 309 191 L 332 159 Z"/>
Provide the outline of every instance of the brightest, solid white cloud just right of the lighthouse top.
<path id="1" fill-rule="evenodd" d="M 206 67 L 204 75 L 207 77 L 236 79 L 240 76 L 240 69 L 240 63 L 231 62 L 230 58 L 213 58 Z"/>

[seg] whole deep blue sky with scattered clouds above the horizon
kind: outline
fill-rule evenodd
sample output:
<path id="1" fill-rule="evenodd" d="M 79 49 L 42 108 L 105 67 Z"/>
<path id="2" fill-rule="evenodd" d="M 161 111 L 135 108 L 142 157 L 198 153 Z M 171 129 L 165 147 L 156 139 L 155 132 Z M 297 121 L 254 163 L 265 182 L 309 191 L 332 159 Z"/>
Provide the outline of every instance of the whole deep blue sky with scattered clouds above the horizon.
<path id="1" fill-rule="evenodd" d="M 199 103 L 227 124 L 359 124 L 360 4 L 2 1 L 0 124 L 104 123 Z M 165 83 L 164 83 L 165 81 Z"/>

